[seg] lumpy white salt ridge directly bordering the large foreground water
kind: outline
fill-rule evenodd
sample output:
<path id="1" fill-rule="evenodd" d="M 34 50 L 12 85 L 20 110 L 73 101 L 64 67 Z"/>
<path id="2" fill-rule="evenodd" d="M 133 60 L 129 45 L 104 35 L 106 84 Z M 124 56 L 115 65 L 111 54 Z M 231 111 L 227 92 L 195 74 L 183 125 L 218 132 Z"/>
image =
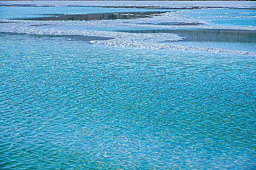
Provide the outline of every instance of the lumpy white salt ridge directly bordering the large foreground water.
<path id="1" fill-rule="evenodd" d="M 5 22 L 13 20 L 4 20 Z M 48 21 L 49 22 L 49 21 Z M 54 21 L 57 24 L 60 21 Z M 63 23 L 64 21 L 61 21 Z M 67 21 L 72 23 L 73 21 Z M 77 22 L 77 21 L 76 21 Z M 81 21 L 83 22 L 83 21 Z M 138 47 L 147 49 L 166 49 L 166 50 L 192 50 L 192 51 L 213 51 L 213 52 L 235 52 L 239 54 L 252 54 L 256 55 L 254 51 L 235 51 L 226 50 L 220 48 L 209 47 L 192 47 L 181 46 L 174 44 L 166 44 L 163 41 L 176 41 L 181 40 L 182 37 L 169 34 L 169 33 L 157 33 L 157 34 L 134 34 L 112 31 L 85 31 L 79 29 L 64 29 L 64 28 L 43 28 L 39 26 L 30 26 L 29 24 L 42 24 L 44 21 L 24 21 L 1 23 L 0 32 L 4 33 L 23 33 L 23 34 L 41 34 L 41 35 L 84 35 L 84 36 L 99 36 L 99 37 L 112 37 L 110 40 L 96 40 L 90 41 L 94 45 L 105 45 L 115 47 Z M 53 21 L 50 21 L 53 23 Z M 78 22 L 80 23 L 80 22 Z M 81 23 L 80 23 L 81 24 Z"/>

